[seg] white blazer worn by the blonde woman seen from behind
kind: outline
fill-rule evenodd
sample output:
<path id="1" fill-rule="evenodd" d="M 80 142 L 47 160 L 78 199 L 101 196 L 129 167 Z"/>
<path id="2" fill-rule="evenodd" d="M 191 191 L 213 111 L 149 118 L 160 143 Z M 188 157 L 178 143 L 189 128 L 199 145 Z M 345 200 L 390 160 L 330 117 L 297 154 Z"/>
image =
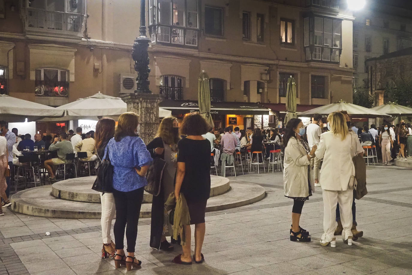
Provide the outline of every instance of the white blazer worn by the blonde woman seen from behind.
<path id="1" fill-rule="evenodd" d="M 345 139 L 332 132 L 321 134 L 315 154 L 323 158 L 319 183 L 323 190 L 346 191 L 351 175 L 355 175 L 352 157 L 358 153 L 358 137 L 349 132 Z M 352 148 L 352 149 L 351 149 Z"/>

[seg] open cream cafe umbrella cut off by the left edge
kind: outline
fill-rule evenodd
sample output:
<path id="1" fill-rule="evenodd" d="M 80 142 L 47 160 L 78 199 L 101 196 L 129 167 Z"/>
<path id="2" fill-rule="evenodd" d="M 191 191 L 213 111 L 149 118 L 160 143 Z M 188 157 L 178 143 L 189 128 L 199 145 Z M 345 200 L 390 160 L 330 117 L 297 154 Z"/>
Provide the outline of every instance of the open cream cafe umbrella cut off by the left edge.
<path id="1" fill-rule="evenodd" d="M 0 120 L 7 122 L 24 122 L 37 120 L 45 117 L 60 117 L 63 110 L 35 103 L 32 101 L 18 99 L 0 94 Z"/>

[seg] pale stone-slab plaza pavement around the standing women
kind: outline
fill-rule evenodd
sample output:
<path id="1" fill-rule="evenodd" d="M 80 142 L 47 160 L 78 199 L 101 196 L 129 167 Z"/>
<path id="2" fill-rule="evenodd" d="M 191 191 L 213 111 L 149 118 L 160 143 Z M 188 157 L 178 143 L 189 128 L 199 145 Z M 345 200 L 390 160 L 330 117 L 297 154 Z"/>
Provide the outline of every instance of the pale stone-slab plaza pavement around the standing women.
<path id="1" fill-rule="evenodd" d="M 412 274 L 412 169 L 377 165 L 368 167 L 367 174 L 369 194 L 356 200 L 358 230 L 364 231 L 364 237 L 352 247 L 339 239 L 336 248 L 319 244 L 323 233 L 319 188 L 305 202 L 301 217 L 301 226 L 311 232 L 312 242 L 290 242 L 293 201 L 283 196 L 282 174 L 245 174 L 230 180 L 257 183 L 265 187 L 267 197 L 206 213 L 205 263 L 171 263 L 181 253 L 177 245 L 173 252 L 153 251 L 148 245 L 150 219 L 140 219 L 136 258 L 143 264 L 127 274 Z M 126 273 L 124 267 L 115 270 L 112 260 L 101 259 L 100 220 L 3 211 L 0 275 Z"/>

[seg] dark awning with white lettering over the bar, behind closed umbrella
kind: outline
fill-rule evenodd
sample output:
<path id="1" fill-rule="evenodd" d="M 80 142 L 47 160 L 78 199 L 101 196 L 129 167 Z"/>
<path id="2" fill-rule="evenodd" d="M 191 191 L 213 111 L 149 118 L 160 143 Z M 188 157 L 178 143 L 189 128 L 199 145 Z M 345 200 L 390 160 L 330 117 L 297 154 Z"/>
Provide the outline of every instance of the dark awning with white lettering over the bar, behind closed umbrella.
<path id="1" fill-rule="evenodd" d="M 199 104 L 194 100 L 164 100 L 160 108 L 171 110 L 173 115 L 199 112 Z M 269 109 L 250 102 L 212 102 L 211 113 L 215 115 L 269 115 Z"/>

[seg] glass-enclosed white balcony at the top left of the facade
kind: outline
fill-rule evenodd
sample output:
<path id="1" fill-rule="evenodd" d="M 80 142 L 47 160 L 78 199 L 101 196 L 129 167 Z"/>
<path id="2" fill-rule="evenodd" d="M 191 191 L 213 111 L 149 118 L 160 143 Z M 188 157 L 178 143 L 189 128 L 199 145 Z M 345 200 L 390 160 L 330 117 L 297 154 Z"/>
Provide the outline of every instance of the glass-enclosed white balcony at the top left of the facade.
<path id="1" fill-rule="evenodd" d="M 27 33 L 53 33 L 81 37 L 83 0 L 23 0 Z"/>

